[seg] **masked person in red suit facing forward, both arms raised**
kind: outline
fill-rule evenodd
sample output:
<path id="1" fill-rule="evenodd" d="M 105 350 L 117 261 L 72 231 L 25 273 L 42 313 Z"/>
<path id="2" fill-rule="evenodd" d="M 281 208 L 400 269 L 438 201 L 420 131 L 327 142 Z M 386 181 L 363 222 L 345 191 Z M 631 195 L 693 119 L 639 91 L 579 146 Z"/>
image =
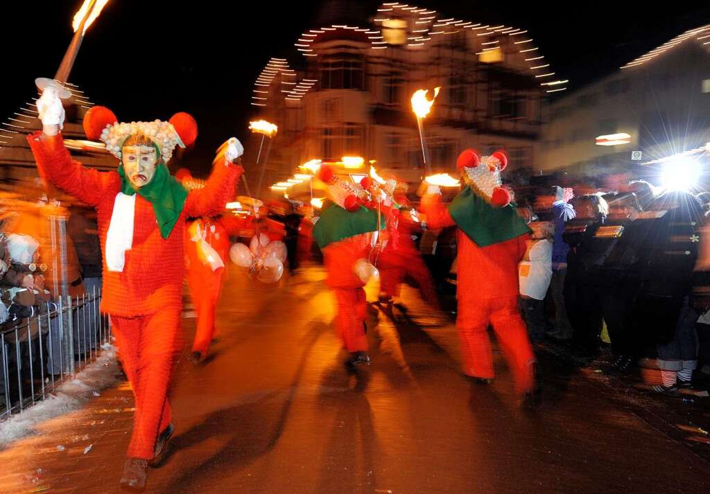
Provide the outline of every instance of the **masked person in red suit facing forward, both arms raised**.
<path id="1" fill-rule="evenodd" d="M 43 131 L 28 142 L 40 175 L 97 209 L 104 253 L 101 308 L 111 316 L 136 397 L 121 484 L 141 489 L 148 461 L 159 463 L 174 429 L 167 394 L 181 348 L 186 219 L 222 210 L 243 172 L 238 164 L 243 148 L 231 138 L 206 187 L 187 192 L 165 164 L 175 146 L 185 146 L 172 124 L 119 124 L 109 109 L 94 106 L 84 116 L 87 138 L 103 141 L 120 163 L 111 172 L 84 168 L 72 160 L 60 133 L 62 89 L 44 89 L 37 102 Z"/>

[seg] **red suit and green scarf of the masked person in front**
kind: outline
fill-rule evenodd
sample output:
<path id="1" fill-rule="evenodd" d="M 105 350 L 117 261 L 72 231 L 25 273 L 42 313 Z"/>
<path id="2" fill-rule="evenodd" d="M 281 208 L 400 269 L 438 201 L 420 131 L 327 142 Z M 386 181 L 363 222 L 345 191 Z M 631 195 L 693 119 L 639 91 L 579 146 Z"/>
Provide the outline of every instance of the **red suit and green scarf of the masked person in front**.
<path id="1" fill-rule="evenodd" d="M 116 199 L 120 193 L 132 194 L 128 181 L 119 172 L 99 172 L 72 160 L 61 134 L 33 133 L 28 142 L 40 175 L 96 208 L 105 253 Z M 167 169 L 156 170 L 149 184 L 153 187 L 141 187 L 136 194 L 133 241 L 122 269 L 109 270 L 104 255 L 101 309 L 111 316 L 119 356 L 136 397 L 130 458 L 152 459 L 158 433 L 172 420 L 168 383 L 182 348 L 185 220 L 222 212 L 242 171 L 240 166 L 219 163 L 204 189 L 187 192 Z"/>

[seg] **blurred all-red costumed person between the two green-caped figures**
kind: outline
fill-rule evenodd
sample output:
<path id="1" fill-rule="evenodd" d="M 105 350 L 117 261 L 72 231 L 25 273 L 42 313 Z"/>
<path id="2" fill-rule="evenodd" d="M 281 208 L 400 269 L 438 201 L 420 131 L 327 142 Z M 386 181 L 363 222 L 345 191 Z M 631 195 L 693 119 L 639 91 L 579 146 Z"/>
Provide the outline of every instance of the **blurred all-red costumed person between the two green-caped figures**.
<path id="1" fill-rule="evenodd" d="M 379 203 L 386 217 L 387 240 L 376 263 L 380 272 L 380 300 L 388 302 L 399 297 L 400 285 L 409 278 L 417 284 L 425 302 L 439 310 L 432 275 L 414 243 L 413 235 L 421 231 L 421 224 L 406 197 L 406 185 L 395 178 L 380 185 L 371 177 L 361 180 L 361 185 L 373 197 L 369 206 L 376 209 Z"/>

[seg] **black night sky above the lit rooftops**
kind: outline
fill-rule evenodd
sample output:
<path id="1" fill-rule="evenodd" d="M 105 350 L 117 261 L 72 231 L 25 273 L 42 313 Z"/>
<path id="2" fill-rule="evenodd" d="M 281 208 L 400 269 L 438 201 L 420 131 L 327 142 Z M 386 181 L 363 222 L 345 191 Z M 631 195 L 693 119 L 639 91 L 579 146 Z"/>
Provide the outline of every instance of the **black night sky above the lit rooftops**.
<path id="1" fill-rule="evenodd" d="M 35 77 L 55 74 L 81 0 L 12 4 L 14 16 L 5 6 L 0 16 L 3 119 L 33 96 Z M 324 4 L 331 8 L 324 9 Z M 195 154 L 208 155 L 220 139 L 246 137 L 253 80 L 268 57 L 298 60 L 293 43 L 303 31 L 320 26 L 322 16 L 358 11 L 368 16 L 378 4 L 111 0 L 87 32 L 70 82 L 121 120 L 168 119 L 175 111 L 190 112 L 200 125 Z M 413 5 L 528 29 L 557 75 L 570 79 L 570 89 L 686 29 L 710 23 L 708 1 L 666 2 L 662 7 L 650 1 L 491 4 L 427 0 Z"/>

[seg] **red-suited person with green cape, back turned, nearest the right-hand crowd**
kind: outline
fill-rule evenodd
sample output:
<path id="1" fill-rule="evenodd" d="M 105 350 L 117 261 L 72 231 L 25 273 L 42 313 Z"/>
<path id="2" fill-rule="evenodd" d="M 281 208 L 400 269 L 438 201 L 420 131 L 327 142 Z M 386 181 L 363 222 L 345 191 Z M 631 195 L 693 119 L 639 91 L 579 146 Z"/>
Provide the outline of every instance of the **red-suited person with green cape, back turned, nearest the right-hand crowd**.
<path id="1" fill-rule="evenodd" d="M 457 160 L 463 190 L 444 207 L 439 188 L 430 185 L 422 207 L 433 228 L 458 227 L 457 329 L 464 373 L 480 383 L 492 382 L 490 324 L 513 370 L 516 390 L 533 394 L 538 390 L 537 363 L 518 309 L 518 263 L 530 229 L 501 187 L 507 164 L 501 151 L 479 158 L 474 150 L 465 150 Z"/>

